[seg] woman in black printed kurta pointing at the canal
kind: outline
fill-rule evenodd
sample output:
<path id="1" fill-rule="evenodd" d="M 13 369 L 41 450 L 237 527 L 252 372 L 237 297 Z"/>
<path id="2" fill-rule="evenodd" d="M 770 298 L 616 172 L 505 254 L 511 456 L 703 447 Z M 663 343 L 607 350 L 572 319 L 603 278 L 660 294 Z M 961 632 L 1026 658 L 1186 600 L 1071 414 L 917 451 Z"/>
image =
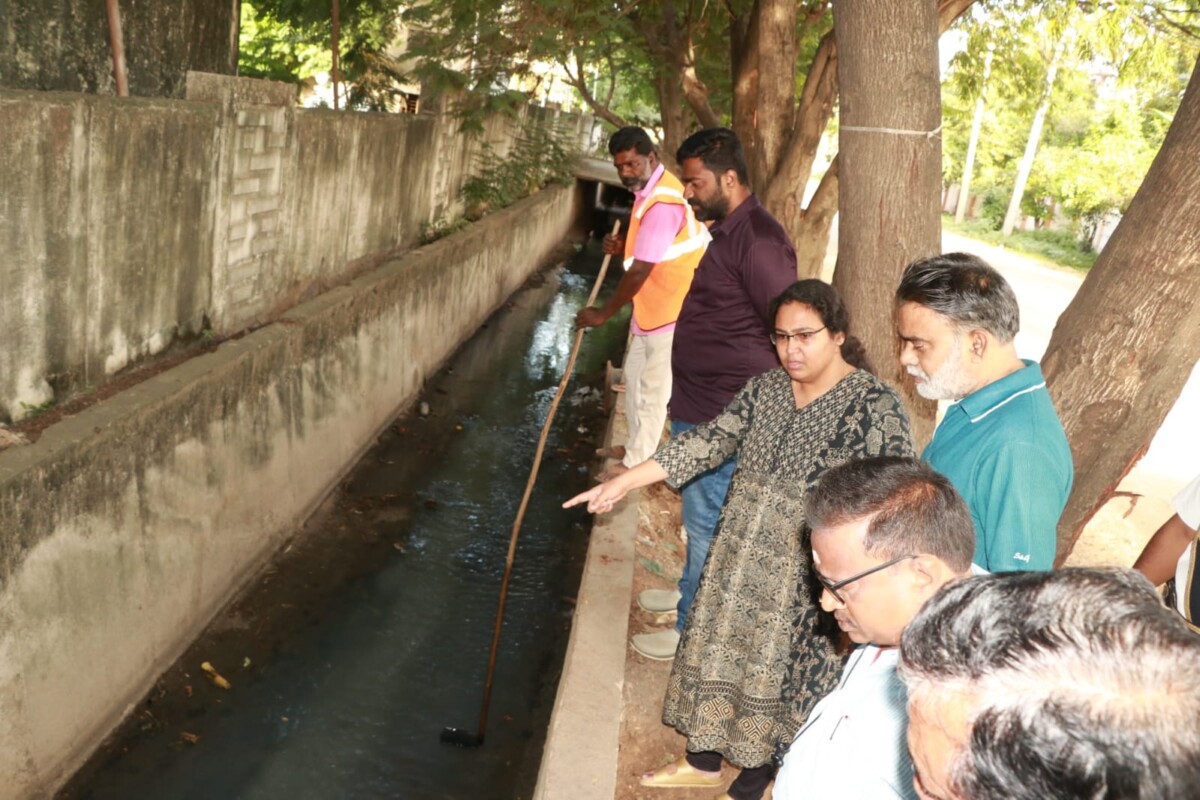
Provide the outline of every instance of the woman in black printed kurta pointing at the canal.
<path id="1" fill-rule="evenodd" d="M 752 378 L 712 422 L 571 501 L 606 511 L 632 488 L 678 487 L 737 453 L 664 704 L 662 721 L 688 736 L 688 756 L 647 772 L 646 786 L 718 786 L 725 758 L 743 768 L 730 794 L 762 795 L 776 747 L 841 667 L 812 589 L 804 494 L 830 467 L 913 455 L 899 397 L 857 368 L 862 345 L 832 287 L 793 284 L 774 318 L 781 368 Z"/>

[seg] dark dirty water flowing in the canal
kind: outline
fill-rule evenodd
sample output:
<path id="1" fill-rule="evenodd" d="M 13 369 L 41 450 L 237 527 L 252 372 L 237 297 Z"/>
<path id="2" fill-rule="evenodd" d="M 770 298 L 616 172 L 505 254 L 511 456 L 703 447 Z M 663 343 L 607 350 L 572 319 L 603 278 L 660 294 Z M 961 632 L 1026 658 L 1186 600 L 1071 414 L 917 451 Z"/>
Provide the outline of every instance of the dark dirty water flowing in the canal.
<path id="1" fill-rule="evenodd" d="M 486 741 L 439 734 L 475 730 L 512 521 L 599 263 L 592 242 L 488 319 L 427 383 L 428 414 L 389 426 L 59 796 L 530 796 L 590 529 L 559 504 L 589 481 L 618 320 L 584 337 L 546 446 Z"/>

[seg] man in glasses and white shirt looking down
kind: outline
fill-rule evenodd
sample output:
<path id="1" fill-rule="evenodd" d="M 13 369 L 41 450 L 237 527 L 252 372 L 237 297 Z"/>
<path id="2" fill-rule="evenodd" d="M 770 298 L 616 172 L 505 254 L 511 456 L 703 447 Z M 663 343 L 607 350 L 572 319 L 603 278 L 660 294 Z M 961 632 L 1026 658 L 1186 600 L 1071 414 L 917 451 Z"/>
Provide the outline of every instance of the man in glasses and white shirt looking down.
<path id="1" fill-rule="evenodd" d="M 971 572 L 971 512 L 946 476 L 896 457 L 830 469 L 805 510 L 821 604 L 860 646 L 796 735 L 772 796 L 913 798 L 896 648 L 922 604 Z"/>

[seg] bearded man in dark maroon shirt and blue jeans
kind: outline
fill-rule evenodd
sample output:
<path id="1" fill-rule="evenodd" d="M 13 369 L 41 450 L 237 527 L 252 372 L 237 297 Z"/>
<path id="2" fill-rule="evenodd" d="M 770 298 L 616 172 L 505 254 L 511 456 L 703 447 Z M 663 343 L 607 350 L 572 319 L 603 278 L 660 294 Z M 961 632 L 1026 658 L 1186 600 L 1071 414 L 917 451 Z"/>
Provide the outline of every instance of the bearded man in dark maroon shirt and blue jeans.
<path id="1" fill-rule="evenodd" d="M 796 251 L 746 184 L 742 143 L 728 128 L 688 137 L 676 154 L 684 196 L 713 241 L 692 277 L 671 350 L 671 433 L 708 422 L 757 374 L 779 366 L 770 301 L 796 281 Z M 672 658 L 733 476 L 734 461 L 683 487 L 688 553 L 676 626 L 634 637 L 650 658 Z M 648 610 L 668 610 L 652 603 Z"/>

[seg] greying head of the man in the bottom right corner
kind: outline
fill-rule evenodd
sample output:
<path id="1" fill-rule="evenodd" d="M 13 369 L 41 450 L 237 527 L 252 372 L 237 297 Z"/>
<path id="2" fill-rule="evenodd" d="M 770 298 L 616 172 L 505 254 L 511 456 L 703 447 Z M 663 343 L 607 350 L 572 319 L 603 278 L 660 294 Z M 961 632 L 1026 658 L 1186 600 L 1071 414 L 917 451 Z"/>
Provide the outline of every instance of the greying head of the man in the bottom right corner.
<path id="1" fill-rule="evenodd" d="M 1200 638 L 1132 570 L 964 581 L 900 652 L 926 800 L 1200 793 Z"/>

